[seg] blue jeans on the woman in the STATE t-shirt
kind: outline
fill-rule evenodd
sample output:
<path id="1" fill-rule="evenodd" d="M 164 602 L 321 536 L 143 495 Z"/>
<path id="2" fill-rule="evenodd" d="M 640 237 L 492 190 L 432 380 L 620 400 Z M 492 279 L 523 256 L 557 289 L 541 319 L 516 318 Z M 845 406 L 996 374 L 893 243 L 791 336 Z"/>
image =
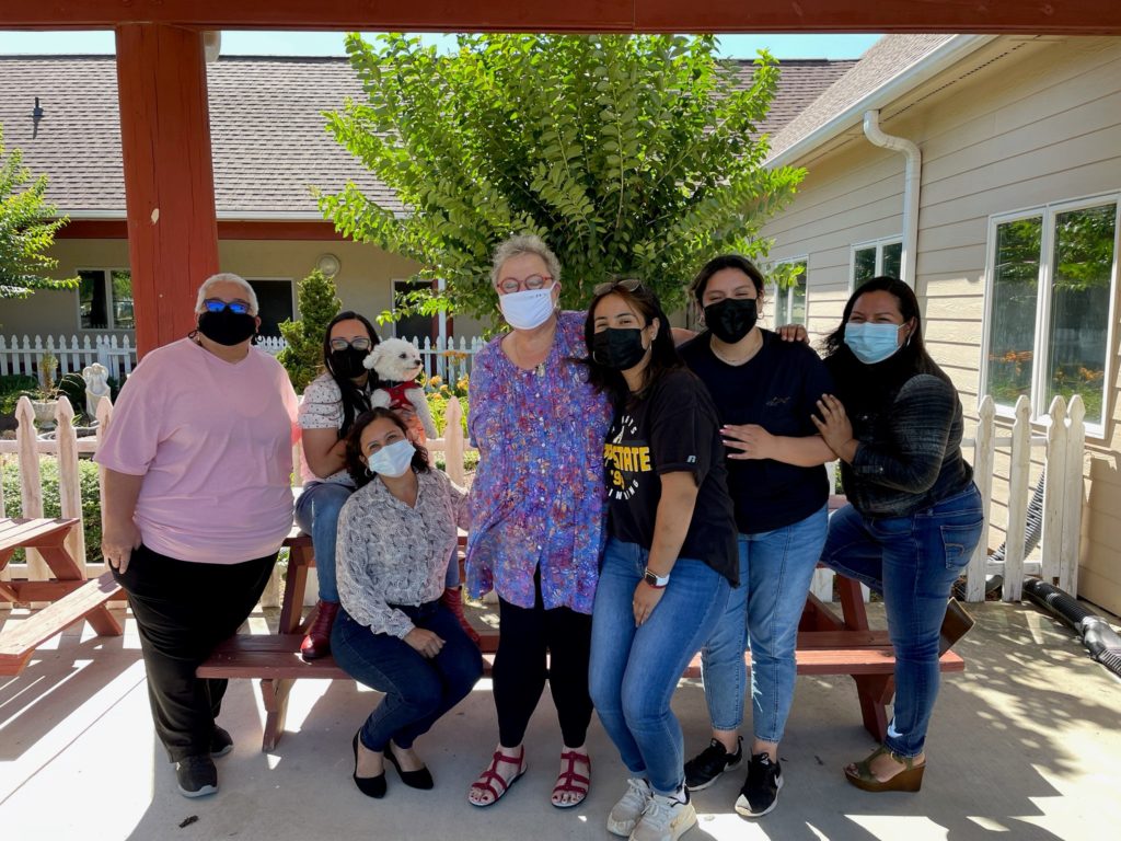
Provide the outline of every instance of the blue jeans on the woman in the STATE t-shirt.
<path id="1" fill-rule="evenodd" d="M 679 557 L 661 601 L 636 628 L 631 600 L 649 554 L 633 543 L 608 542 L 592 609 L 589 687 L 623 765 L 669 795 L 685 774 L 682 728 L 669 701 L 724 612 L 731 586 L 703 561 Z"/>

